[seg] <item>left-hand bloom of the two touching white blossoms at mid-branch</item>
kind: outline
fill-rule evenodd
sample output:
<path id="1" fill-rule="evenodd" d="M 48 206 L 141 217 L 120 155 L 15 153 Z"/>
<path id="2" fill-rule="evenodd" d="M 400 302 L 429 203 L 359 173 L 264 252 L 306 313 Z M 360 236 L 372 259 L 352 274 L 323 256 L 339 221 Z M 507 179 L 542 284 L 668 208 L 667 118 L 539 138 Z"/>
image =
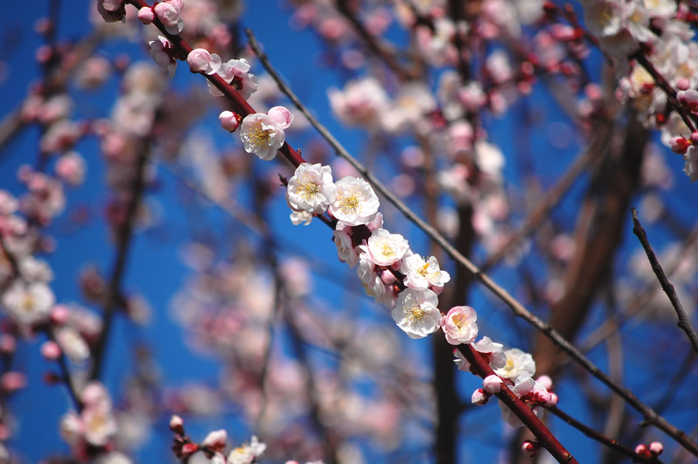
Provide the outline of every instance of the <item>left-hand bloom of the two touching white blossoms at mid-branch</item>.
<path id="1" fill-rule="evenodd" d="M 332 167 L 302 163 L 288 179 L 288 204 L 296 211 L 321 214 L 334 201 Z"/>

